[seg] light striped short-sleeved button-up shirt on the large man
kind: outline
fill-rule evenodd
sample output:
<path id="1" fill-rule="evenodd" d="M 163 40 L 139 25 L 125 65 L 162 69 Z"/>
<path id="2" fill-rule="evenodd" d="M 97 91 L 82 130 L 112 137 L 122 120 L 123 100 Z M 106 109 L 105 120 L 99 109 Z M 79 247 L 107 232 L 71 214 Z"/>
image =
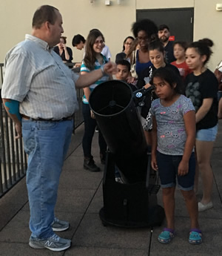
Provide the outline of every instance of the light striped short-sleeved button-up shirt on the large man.
<path id="1" fill-rule="evenodd" d="M 1 97 L 19 101 L 20 114 L 58 120 L 78 110 L 77 79 L 47 42 L 26 35 L 7 53 Z"/>

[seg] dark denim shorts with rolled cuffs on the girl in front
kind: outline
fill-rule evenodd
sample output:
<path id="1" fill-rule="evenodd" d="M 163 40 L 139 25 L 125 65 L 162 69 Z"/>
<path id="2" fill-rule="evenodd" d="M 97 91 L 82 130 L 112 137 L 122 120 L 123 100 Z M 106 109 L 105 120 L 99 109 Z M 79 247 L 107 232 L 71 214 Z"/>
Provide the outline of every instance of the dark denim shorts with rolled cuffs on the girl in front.
<path id="1" fill-rule="evenodd" d="M 176 178 L 178 180 L 178 188 L 181 190 L 189 191 L 194 188 L 195 154 L 192 152 L 189 158 L 188 173 L 184 176 L 178 176 L 178 165 L 181 163 L 182 157 L 157 153 L 158 171 L 162 188 L 175 187 Z"/>

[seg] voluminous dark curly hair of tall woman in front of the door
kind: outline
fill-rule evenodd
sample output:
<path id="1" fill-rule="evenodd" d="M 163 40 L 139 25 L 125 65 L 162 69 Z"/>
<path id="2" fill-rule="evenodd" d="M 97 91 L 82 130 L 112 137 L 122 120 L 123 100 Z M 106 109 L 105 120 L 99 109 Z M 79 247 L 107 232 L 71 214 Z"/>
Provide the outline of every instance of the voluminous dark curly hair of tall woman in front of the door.
<path id="1" fill-rule="evenodd" d="M 132 33 L 135 37 L 138 36 L 138 32 L 141 30 L 147 33 L 149 41 L 158 39 L 158 27 L 150 19 L 142 19 L 132 24 Z"/>

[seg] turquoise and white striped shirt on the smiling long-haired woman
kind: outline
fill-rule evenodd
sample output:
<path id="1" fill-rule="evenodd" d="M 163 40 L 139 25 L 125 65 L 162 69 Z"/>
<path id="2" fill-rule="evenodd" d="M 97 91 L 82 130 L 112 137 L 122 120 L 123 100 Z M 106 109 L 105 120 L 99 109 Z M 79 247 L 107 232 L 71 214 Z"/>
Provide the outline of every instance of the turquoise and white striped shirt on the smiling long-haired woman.
<path id="1" fill-rule="evenodd" d="M 103 64 L 107 63 L 107 59 L 105 56 L 103 56 Z M 94 70 L 98 70 L 101 68 L 101 64 L 98 62 L 98 60 L 95 60 L 95 65 L 94 65 Z M 91 72 L 92 70 L 90 70 L 90 68 L 87 68 L 87 66 L 84 64 L 84 61 L 81 64 L 81 68 L 80 68 L 80 72 Z M 106 82 L 109 80 L 109 76 L 107 74 L 104 74 L 104 76 L 101 77 L 101 79 L 98 79 L 97 81 L 95 81 L 94 84 L 90 85 L 90 91 L 92 92 L 93 89 L 97 86 L 100 85 L 102 82 Z M 89 104 L 89 102 L 87 101 L 86 96 L 83 96 L 82 101 L 84 102 L 84 104 Z"/>

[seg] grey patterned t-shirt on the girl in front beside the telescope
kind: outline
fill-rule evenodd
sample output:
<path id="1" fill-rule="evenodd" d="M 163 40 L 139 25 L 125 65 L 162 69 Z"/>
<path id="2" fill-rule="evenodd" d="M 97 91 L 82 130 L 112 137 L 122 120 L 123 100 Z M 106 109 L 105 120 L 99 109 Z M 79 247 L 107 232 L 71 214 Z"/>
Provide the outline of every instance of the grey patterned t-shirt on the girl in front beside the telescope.
<path id="1" fill-rule="evenodd" d="M 158 151 L 168 155 L 183 155 L 186 142 L 184 114 L 195 111 L 192 101 L 181 95 L 172 105 L 164 107 L 160 99 L 151 105 L 157 122 Z"/>

